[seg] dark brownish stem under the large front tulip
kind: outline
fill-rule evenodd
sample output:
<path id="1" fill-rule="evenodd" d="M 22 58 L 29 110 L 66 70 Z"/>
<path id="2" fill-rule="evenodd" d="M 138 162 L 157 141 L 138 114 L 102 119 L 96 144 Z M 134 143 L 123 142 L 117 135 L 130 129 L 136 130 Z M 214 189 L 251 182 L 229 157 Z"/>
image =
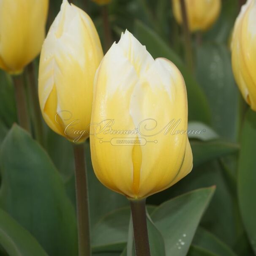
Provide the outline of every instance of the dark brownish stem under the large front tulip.
<path id="1" fill-rule="evenodd" d="M 147 233 L 146 199 L 130 200 L 136 256 L 150 256 Z"/>

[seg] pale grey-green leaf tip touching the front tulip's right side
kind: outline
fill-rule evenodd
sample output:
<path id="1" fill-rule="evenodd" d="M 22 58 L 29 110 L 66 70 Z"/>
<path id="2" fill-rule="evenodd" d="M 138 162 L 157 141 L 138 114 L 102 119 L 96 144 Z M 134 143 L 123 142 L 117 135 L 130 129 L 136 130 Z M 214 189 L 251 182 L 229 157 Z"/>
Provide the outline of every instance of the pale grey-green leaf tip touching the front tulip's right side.
<path id="1" fill-rule="evenodd" d="M 189 122 L 188 123 L 188 138 L 189 139 L 200 139 L 207 141 L 210 139 L 218 139 L 218 134 L 212 130 L 208 125 L 200 122 Z"/>

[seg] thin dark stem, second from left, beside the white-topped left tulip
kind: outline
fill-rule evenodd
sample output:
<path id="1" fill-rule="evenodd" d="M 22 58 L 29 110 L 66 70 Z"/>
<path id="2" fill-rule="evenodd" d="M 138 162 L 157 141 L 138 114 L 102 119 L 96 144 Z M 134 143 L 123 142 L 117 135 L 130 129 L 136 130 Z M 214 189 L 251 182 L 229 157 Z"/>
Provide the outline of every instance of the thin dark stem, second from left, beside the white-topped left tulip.
<path id="1" fill-rule="evenodd" d="M 33 122 L 35 127 L 35 138 L 37 141 L 43 145 L 44 136 L 43 136 L 43 122 L 41 118 L 41 110 L 39 106 L 39 99 L 38 99 L 38 90 L 37 85 L 35 83 L 35 70 L 33 63 L 30 63 L 27 67 L 27 74 L 29 78 L 29 92 L 30 92 L 30 101 L 32 105 L 33 111 Z"/>

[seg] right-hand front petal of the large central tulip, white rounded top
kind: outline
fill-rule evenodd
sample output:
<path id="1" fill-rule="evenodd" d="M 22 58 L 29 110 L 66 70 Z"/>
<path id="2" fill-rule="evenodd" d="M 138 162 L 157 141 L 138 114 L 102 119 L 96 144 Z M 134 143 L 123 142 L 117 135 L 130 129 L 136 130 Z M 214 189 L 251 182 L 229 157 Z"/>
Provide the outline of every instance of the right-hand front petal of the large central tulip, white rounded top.
<path id="1" fill-rule="evenodd" d="M 140 137 L 148 141 L 141 146 L 142 166 L 139 193 L 136 195 L 143 197 L 151 191 L 161 190 L 174 179 L 185 151 L 186 134 L 171 134 L 169 131 L 164 135 L 173 120 L 174 123 L 180 120 L 176 130 L 187 130 L 185 83 L 173 63 L 163 58 L 155 60 L 133 91 L 130 114 L 136 127 L 144 120 L 143 125 L 139 125 Z M 144 125 L 148 129 L 156 127 L 147 131 Z"/>

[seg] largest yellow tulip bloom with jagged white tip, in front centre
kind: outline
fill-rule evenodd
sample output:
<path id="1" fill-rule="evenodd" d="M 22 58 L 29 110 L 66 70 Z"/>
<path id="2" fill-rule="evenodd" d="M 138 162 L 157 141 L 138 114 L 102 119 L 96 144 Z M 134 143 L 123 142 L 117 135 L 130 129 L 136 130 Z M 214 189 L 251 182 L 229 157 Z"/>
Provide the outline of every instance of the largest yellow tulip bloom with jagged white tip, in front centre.
<path id="1" fill-rule="evenodd" d="M 180 133 L 173 131 L 173 120 L 180 120 Z M 154 60 L 127 30 L 95 75 L 91 123 L 93 169 L 118 193 L 144 198 L 192 169 L 188 136 L 182 134 L 188 125 L 183 77 L 169 60 Z"/>

